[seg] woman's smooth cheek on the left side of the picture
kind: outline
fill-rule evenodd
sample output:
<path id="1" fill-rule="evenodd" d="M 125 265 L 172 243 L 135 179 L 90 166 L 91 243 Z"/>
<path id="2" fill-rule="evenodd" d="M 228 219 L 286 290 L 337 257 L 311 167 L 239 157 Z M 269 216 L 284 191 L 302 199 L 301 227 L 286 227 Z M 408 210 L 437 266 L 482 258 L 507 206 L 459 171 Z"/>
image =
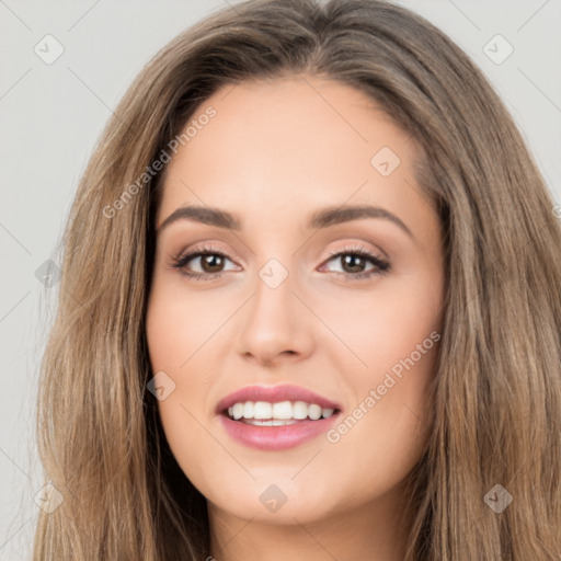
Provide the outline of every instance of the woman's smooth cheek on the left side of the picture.
<path id="1" fill-rule="evenodd" d="M 206 426 L 210 411 L 207 396 L 217 374 L 211 350 L 232 313 L 226 314 L 231 301 L 218 305 L 224 313 L 214 313 L 216 299 L 209 300 L 208 296 L 186 296 L 181 282 L 159 277 L 146 319 L 152 373 L 165 373 L 173 386 L 173 391 L 158 401 L 160 420 L 173 455 L 195 480 L 204 479 L 198 459 L 217 454 L 216 442 L 209 438 Z"/>

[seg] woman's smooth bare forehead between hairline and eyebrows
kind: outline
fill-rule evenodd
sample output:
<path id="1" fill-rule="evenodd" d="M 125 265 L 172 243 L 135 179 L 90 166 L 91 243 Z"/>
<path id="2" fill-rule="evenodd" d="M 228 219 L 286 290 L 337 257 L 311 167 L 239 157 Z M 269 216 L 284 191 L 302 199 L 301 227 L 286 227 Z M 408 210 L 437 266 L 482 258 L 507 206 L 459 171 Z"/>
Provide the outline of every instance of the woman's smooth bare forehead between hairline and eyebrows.
<path id="1" fill-rule="evenodd" d="M 211 118 L 203 118 L 213 114 Z M 168 164 L 159 221 L 178 206 L 259 209 L 415 196 L 411 136 L 365 93 L 318 77 L 226 85 L 203 102 Z M 389 171 L 389 173 L 388 173 Z"/>

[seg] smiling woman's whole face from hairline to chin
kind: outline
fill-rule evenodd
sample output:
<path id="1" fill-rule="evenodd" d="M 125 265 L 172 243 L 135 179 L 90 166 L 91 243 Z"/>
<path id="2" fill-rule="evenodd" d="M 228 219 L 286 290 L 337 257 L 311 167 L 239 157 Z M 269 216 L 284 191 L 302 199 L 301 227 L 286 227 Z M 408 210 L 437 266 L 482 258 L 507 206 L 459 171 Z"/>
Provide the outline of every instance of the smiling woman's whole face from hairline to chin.
<path id="1" fill-rule="evenodd" d="M 147 318 L 179 465 L 215 517 L 387 514 L 427 442 L 444 295 L 413 140 L 317 77 L 230 85 L 188 125 Z"/>

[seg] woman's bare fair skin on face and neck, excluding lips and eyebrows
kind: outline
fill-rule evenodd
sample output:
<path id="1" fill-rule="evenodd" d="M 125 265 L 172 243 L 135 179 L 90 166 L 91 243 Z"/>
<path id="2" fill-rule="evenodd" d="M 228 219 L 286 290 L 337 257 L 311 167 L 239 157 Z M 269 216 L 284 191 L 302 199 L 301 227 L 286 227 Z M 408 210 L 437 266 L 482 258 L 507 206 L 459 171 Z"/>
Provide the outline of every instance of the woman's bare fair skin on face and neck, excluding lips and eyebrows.
<path id="1" fill-rule="evenodd" d="M 208 501 L 209 556 L 402 560 L 410 520 L 401 492 L 426 446 L 438 344 L 375 407 L 364 402 L 440 333 L 443 240 L 413 176 L 417 149 L 365 94 L 320 77 L 229 85 L 197 114 L 208 106 L 216 116 L 168 164 L 157 228 L 195 204 L 234 214 L 242 229 L 183 219 L 158 230 L 147 336 L 153 373 L 175 383 L 158 407 L 179 465 Z M 401 160 L 388 176 L 370 163 L 385 146 Z M 383 207 L 412 237 L 382 218 L 307 227 L 320 208 L 355 204 Z M 227 259 L 186 267 L 221 276 L 187 278 L 171 266 L 198 242 Z M 331 255 L 348 245 L 390 270 L 354 278 L 375 265 Z M 288 273 L 274 289 L 259 276 L 273 257 Z M 300 385 L 341 403 L 343 416 L 360 403 L 366 413 L 336 443 L 322 434 L 282 451 L 249 448 L 215 408 L 255 383 Z M 287 497 L 276 512 L 260 501 L 271 484 Z"/>

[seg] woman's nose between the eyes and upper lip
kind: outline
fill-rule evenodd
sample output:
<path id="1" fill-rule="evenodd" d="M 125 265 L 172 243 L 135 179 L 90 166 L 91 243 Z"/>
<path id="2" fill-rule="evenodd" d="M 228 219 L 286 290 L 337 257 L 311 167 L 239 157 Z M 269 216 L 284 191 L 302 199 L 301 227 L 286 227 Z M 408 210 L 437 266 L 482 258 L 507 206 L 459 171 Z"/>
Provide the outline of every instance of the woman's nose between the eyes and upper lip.
<path id="1" fill-rule="evenodd" d="M 255 294 L 240 316 L 237 351 L 244 359 L 274 367 L 311 354 L 316 318 L 293 288 L 290 275 L 276 287 L 257 278 Z"/>

